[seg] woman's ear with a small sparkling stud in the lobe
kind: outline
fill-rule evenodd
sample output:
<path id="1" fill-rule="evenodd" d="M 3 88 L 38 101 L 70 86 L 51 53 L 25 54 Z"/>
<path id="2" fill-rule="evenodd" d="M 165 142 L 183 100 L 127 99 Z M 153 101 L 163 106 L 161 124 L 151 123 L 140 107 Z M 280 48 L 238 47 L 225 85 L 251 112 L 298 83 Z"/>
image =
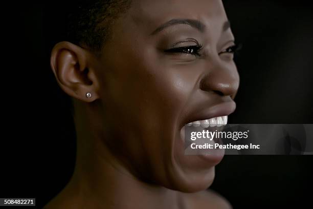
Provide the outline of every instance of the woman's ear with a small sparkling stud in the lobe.
<path id="1" fill-rule="evenodd" d="M 87 50 L 68 41 L 56 44 L 50 64 L 61 89 L 71 97 L 91 102 L 99 98 L 98 80 L 92 64 L 94 58 Z M 87 93 L 91 97 L 87 97 Z"/>

